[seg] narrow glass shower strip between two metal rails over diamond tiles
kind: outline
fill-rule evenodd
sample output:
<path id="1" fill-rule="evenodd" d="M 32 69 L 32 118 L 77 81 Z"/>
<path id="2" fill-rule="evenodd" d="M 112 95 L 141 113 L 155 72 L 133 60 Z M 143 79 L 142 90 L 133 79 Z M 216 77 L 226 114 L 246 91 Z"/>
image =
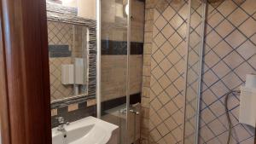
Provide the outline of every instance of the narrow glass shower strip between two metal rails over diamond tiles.
<path id="1" fill-rule="evenodd" d="M 204 47 L 206 3 L 190 0 L 186 73 L 184 144 L 198 143 L 201 93 L 201 62 Z"/>

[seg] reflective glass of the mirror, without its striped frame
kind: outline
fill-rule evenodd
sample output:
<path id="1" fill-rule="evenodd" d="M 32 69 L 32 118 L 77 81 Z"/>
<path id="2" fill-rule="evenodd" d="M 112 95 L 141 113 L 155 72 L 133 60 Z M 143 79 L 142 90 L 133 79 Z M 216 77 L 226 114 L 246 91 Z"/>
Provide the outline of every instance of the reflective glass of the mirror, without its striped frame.
<path id="1" fill-rule="evenodd" d="M 88 90 L 88 28 L 48 20 L 51 101 L 60 101 Z"/>

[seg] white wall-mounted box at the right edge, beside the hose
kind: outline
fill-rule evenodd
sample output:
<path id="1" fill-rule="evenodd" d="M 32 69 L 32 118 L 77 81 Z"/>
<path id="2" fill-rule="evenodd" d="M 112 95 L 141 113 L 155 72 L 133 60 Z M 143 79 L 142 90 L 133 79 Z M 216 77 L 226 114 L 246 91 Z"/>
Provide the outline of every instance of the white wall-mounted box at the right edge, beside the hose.
<path id="1" fill-rule="evenodd" d="M 247 74 L 241 86 L 239 123 L 255 127 L 256 124 L 256 75 Z"/>

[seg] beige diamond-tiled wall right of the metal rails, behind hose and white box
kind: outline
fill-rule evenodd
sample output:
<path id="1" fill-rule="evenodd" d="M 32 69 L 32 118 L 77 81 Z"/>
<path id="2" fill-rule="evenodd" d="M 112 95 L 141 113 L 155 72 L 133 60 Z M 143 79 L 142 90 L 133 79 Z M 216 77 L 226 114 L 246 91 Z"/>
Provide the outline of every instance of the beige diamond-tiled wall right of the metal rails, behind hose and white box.
<path id="1" fill-rule="evenodd" d="M 200 143 L 226 143 L 224 94 L 239 89 L 245 75 L 256 72 L 256 2 L 225 0 L 208 7 L 207 14 L 211 16 L 207 18 L 203 59 Z M 239 95 L 233 95 L 229 102 L 231 143 L 253 144 L 254 129 L 238 122 Z"/>

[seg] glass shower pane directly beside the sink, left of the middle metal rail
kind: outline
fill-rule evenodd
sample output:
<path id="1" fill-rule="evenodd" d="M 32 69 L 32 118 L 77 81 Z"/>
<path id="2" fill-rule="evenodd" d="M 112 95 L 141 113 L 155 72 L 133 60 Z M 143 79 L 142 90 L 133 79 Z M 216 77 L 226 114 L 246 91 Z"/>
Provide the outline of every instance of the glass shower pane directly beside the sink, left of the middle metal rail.
<path id="1" fill-rule="evenodd" d="M 101 118 L 119 126 L 119 143 L 127 141 L 128 3 L 101 3 Z M 127 98 L 128 97 L 128 98 Z M 128 101 L 127 101 L 128 100 Z"/>

